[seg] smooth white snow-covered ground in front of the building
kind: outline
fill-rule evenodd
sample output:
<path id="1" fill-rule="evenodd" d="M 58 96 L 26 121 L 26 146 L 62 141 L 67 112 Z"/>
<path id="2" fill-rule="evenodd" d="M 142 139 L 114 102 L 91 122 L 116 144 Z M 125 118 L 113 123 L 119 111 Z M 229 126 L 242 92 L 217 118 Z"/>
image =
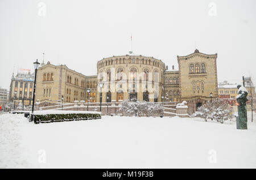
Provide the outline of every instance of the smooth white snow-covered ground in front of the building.
<path id="1" fill-rule="evenodd" d="M 256 168 L 256 123 L 102 117 L 35 125 L 0 115 L 0 168 Z"/>

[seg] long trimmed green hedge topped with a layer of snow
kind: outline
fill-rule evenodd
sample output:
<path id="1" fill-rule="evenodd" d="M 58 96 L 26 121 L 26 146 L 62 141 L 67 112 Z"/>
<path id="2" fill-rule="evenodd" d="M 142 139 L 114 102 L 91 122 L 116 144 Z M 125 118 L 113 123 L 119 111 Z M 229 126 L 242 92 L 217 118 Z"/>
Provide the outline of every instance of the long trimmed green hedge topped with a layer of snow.
<path id="1" fill-rule="evenodd" d="M 100 119 L 100 112 L 69 111 L 69 110 L 42 110 L 34 112 L 35 123 L 49 123 L 62 121 L 79 121 Z"/>

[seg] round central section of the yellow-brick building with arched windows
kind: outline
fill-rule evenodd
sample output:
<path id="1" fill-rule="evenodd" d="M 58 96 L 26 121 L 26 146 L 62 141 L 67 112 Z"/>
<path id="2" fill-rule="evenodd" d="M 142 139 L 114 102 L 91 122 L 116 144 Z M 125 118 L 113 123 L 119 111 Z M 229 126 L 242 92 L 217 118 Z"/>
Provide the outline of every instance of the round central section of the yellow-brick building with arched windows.
<path id="1" fill-rule="evenodd" d="M 97 62 L 98 84 L 104 82 L 102 102 L 132 98 L 160 102 L 165 69 L 161 60 L 143 55 L 103 58 Z M 97 100 L 100 100 L 99 86 Z"/>

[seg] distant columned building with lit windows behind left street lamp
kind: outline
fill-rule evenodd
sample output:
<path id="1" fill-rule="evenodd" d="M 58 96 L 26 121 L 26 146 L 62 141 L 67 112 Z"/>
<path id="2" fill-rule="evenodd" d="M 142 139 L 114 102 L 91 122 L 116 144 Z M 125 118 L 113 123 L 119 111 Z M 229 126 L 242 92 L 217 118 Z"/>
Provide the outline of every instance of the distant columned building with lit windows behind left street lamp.
<path id="1" fill-rule="evenodd" d="M 34 90 L 35 74 L 30 72 L 18 72 L 18 74 L 11 78 L 9 101 L 18 105 L 19 103 L 24 106 L 32 105 L 33 90 Z"/>

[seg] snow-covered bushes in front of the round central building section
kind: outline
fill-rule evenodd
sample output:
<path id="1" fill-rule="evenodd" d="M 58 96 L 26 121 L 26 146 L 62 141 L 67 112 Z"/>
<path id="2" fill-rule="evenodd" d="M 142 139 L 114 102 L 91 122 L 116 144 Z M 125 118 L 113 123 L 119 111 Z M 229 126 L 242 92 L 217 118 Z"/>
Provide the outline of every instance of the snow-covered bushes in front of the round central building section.
<path id="1" fill-rule="evenodd" d="M 151 117 L 163 113 L 163 105 L 154 102 L 139 101 L 137 99 L 125 100 L 122 102 L 120 111 L 125 115 L 138 115 Z"/>

